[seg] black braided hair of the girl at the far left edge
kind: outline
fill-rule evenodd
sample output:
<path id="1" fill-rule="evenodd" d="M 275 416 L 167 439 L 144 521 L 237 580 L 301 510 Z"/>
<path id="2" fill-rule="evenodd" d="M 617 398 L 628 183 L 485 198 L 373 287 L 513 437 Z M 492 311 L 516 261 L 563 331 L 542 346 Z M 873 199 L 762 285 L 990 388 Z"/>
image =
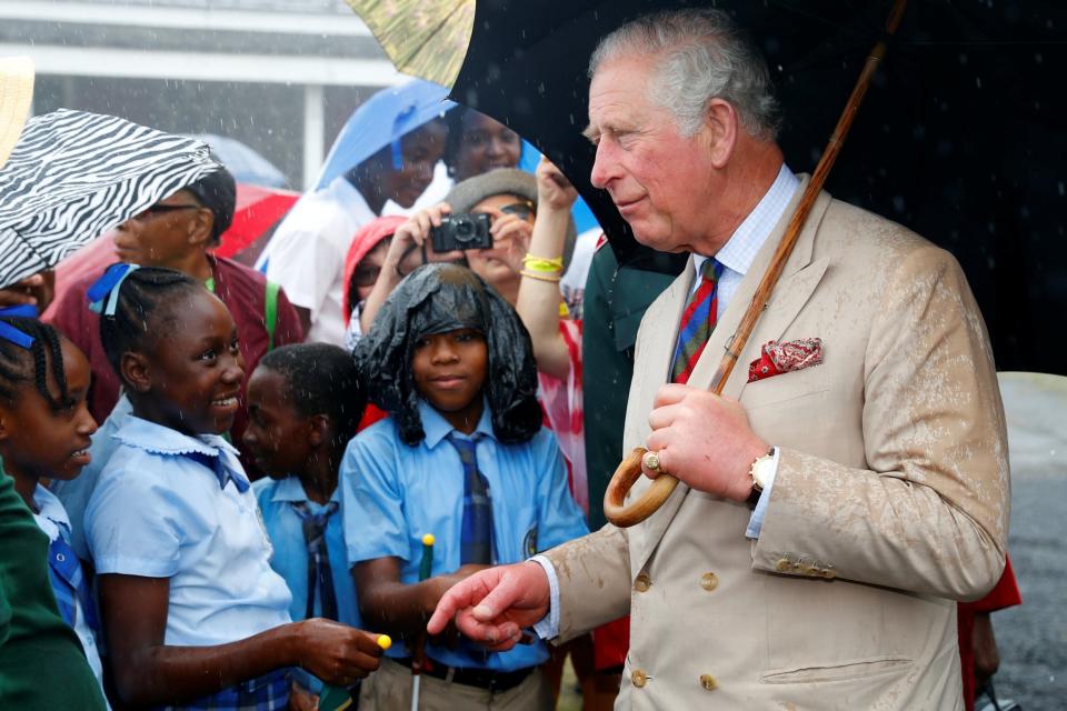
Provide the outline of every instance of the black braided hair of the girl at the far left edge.
<path id="1" fill-rule="evenodd" d="M 19 391 L 32 380 L 37 391 L 41 393 L 53 412 L 73 404 L 73 398 L 67 390 L 59 331 L 37 319 L 3 317 L 0 320 L 33 339 L 30 348 L 22 348 L 0 338 L 0 398 L 14 403 Z M 48 389 L 49 364 L 51 364 L 52 378 L 59 385 L 58 398 Z"/>

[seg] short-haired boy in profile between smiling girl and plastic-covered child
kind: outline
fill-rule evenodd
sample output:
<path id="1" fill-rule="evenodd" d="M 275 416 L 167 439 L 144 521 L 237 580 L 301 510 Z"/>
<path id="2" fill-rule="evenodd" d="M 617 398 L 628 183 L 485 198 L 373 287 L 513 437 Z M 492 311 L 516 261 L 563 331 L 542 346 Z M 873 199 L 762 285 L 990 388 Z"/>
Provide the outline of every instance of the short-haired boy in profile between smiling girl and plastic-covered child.
<path id="1" fill-rule="evenodd" d="M 293 620 L 360 627 L 337 470 L 365 401 L 351 356 L 329 343 L 271 351 L 248 381 L 243 443 L 269 477 L 252 491 L 275 549 L 270 565 L 292 592 Z M 295 678 L 303 690 L 321 691 L 302 670 Z"/>

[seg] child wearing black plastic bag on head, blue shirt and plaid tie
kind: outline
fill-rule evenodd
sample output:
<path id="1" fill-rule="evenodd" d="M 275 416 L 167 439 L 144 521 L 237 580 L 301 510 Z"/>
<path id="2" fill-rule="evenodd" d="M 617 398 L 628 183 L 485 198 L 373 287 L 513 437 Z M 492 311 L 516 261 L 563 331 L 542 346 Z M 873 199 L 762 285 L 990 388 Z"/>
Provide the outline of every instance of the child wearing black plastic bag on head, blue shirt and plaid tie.
<path id="1" fill-rule="evenodd" d="M 448 588 L 582 535 L 586 524 L 555 435 L 541 429 L 529 334 L 473 272 L 412 272 L 356 358 L 368 399 L 390 414 L 351 441 L 340 472 L 360 611 L 403 641 L 360 697 L 362 711 L 389 711 L 411 707 L 417 640 Z M 420 582 L 426 533 L 436 545 Z M 426 708 L 552 708 L 540 640 L 508 652 L 452 642 L 426 644 Z"/>

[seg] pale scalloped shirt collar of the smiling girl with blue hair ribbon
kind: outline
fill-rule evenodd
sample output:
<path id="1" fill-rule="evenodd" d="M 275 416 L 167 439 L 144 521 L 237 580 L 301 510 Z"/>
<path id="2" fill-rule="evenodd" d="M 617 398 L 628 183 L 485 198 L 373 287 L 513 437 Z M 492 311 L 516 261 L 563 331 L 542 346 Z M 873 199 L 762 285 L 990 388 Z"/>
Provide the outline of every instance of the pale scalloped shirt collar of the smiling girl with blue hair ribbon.
<path id="1" fill-rule="evenodd" d="M 142 449 L 163 457 L 185 457 L 210 469 L 226 488 L 232 481 L 239 492 L 248 491 L 249 481 L 237 459 L 237 449 L 218 434 L 190 437 L 169 427 L 149 422 L 130 414 L 118 432 L 116 440 L 128 447 Z"/>

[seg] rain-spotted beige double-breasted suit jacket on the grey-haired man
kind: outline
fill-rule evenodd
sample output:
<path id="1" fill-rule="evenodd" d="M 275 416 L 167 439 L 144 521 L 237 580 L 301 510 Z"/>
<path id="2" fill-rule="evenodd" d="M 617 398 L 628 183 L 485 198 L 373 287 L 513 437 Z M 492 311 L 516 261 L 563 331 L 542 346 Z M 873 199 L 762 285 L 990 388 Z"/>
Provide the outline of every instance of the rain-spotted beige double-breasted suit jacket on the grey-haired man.
<path id="1" fill-rule="evenodd" d="M 800 193 L 690 385 L 710 385 Z M 641 323 L 627 451 L 649 433 L 691 280 Z M 808 337 L 821 364 L 746 382 L 761 344 Z M 824 193 L 725 394 L 781 451 L 758 541 L 745 504 L 679 484 L 644 523 L 547 553 L 560 639 L 631 615 L 617 709 L 963 709 L 954 601 L 1000 575 L 1009 474 L 987 333 L 955 259 Z"/>

